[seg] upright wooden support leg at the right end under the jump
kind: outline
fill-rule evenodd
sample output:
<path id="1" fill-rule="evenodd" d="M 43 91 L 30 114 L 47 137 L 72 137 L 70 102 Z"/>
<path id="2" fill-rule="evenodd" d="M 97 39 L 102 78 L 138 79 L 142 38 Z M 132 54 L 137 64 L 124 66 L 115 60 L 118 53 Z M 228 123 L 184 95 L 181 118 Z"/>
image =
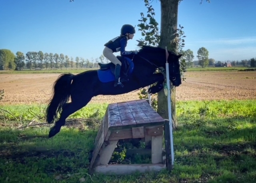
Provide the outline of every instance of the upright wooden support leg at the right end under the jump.
<path id="1" fill-rule="evenodd" d="M 152 136 L 151 158 L 152 163 L 162 163 L 163 136 Z"/>

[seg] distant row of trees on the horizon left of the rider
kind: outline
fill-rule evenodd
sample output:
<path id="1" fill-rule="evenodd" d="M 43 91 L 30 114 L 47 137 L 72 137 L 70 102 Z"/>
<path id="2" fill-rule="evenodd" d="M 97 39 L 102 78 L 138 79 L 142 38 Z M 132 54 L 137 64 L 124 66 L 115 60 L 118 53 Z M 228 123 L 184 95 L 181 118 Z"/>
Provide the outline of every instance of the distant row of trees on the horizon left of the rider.
<path id="1" fill-rule="evenodd" d="M 82 57 L 69 57 L 64 54 L 53 54 L 39 52 L 16 52 L 14 55 L 11 50 L 0 50 L 0 70 L 52 70 L 52 69 L 78 69 L 78 68 L 98 68 L 98 62 L 106 63 L 103 55 L 99 58 L 84 59 Z"/>

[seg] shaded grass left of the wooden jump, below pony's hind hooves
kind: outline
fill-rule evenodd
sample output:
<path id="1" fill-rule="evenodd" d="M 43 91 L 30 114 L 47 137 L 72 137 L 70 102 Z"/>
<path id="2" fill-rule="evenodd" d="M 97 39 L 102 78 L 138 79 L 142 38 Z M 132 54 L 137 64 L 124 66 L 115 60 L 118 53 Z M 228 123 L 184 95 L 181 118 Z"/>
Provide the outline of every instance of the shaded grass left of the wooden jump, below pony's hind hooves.
<path id="1" fill-rule="evenodd" d="M 97 131 L 67 125 L 50 139 L 48 132 L 49 127 L 0 129 L 0 182 L 91 182 L 85 175 Z"/>

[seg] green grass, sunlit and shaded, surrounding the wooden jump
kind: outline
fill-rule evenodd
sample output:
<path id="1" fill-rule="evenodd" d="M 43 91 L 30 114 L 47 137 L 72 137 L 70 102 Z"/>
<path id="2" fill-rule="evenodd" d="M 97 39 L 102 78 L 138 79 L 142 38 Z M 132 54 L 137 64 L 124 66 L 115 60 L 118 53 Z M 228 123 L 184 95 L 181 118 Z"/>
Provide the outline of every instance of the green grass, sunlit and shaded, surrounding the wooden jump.
<path id="1" fill-rule="evenodd" d="M 44 106 L 0 107 L 18 119 L 0 113 L 0 182 L 71 183 L 81 178 L 86 183 L 256 182 L 256 100 L 178 101 L 179 127 L 174 131 L 175 165 L 171 173 L 91 177 L 88 165 L 95 128 L 68 125 L 47 139 L 49 127 L 16 129 L 20 119 L 23 123 L 28 123 L 25 119 L 40 120 Z M 100 119 L 106 107 L 91 104 L 72 117 Z M 147 160 L 137 157 L 137 161 Z M 55 179 L 60 177 L 63 179 Z"/>

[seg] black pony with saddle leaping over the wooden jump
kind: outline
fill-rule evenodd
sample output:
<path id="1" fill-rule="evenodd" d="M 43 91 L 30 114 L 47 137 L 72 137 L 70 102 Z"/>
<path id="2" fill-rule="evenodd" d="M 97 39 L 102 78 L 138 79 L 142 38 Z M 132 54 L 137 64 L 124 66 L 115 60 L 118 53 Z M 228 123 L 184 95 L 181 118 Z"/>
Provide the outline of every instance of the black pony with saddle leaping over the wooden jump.
<path id="1" fill-rule="evenodd" d="M 174 86 L 181 84 L 179 58 L 174 52 L 168 52 L 169 77 Z M 88 70 L 80 74 L 61 74 L 54 83 L 54 93 L 46 109 L 46 121 L 52 123 L 60 113 L 60 118 L 50 129 L 49 138 L 53 137 L 65 125 L 66 118 L 78 111 L 96 95 L 119 95 L 132 92 L 156 83 L 149 88 L 149 93 L 160 92 L 165 80 L 161 72 L 166 66 L 166 50 L 152 46 L 142 46 L 136 55 L 127 55 L 128 81 L 122 82 L 124 87 L 114 87 L 114 64 L 101 64 L 99 70 Z M 119 57 L 118 57 L 119 58 Z M 120 59 L 120 58 L 119 58 Z M 126 64 L 124 64 L 126 63 Z M 124 65 L 124 66 L 123 66 Z M 124 70 L 122 77 L 124 77 Z M 67 103 L 71 97 L 71 102 Z"/>

